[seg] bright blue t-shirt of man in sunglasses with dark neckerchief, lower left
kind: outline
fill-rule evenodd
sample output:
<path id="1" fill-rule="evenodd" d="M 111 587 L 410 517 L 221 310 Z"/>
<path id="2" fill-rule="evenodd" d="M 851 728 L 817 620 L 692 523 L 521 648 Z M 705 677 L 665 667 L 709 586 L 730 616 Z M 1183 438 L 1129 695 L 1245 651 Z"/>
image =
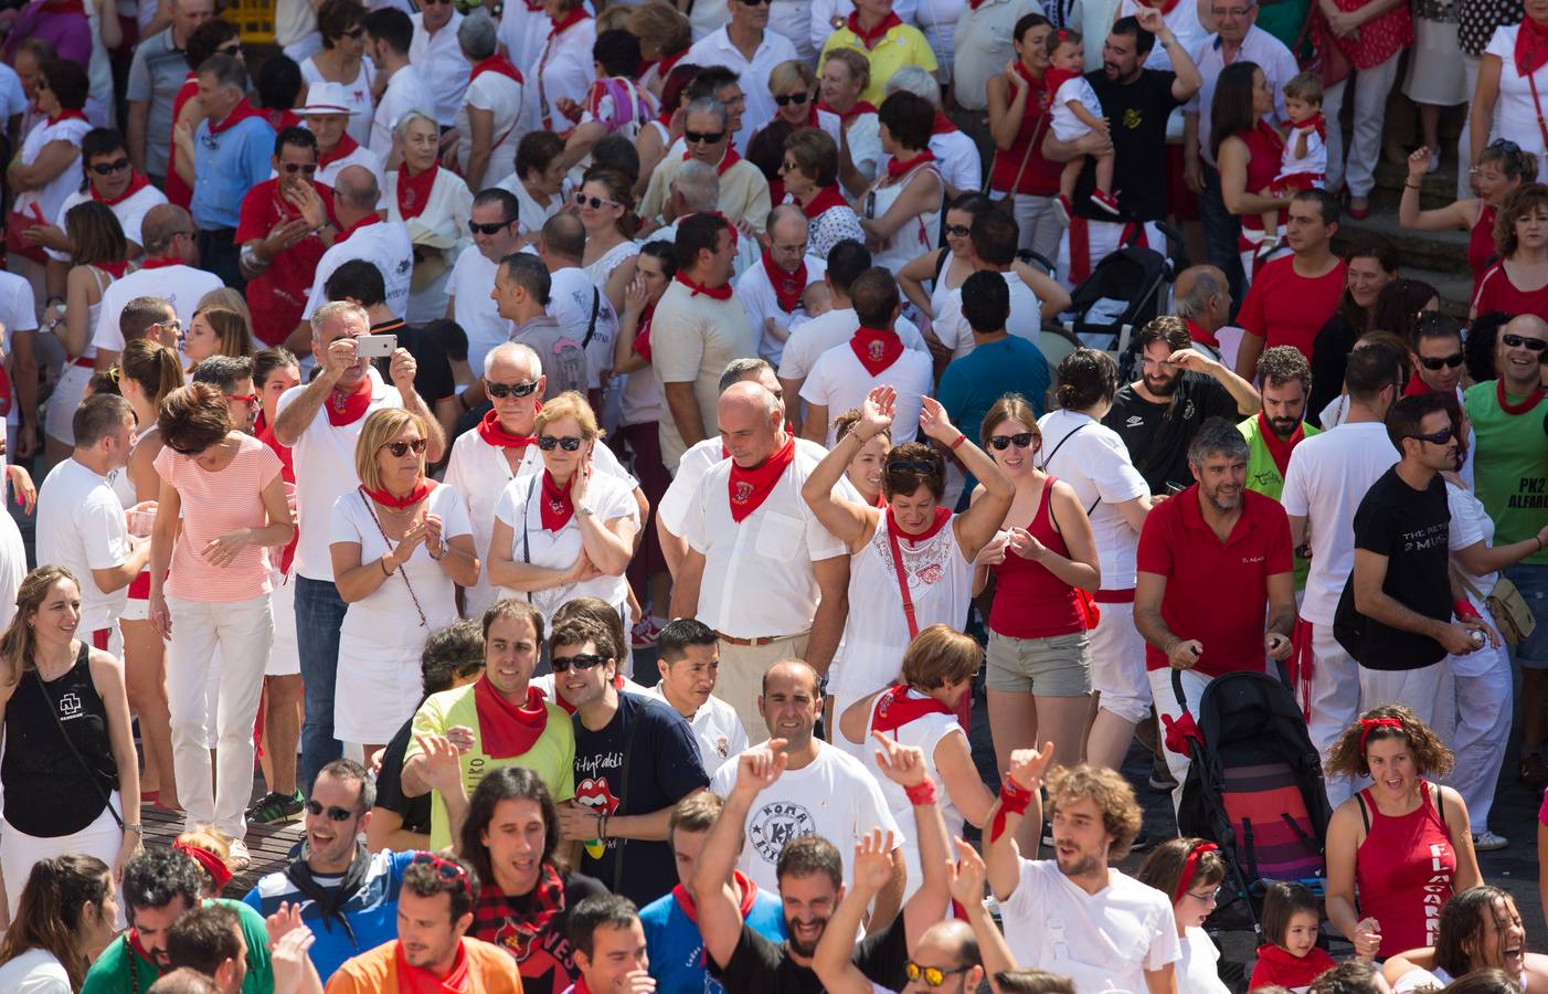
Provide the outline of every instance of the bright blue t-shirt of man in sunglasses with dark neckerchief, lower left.
<path id="1" fill-rule="evenodd" d="M 404 867 L 416 855 L 381 852 L 367 856 L 370 869 L 365 870 L 365 879 L 341 909 L 354 932 L 353 943 L 337 918 L 322 921 L 317 903 L 302 896 L 285 873 L 269 873 L 262 878 L 241 900 L 265 918 L 277 912 L 282 901 L 300 903 L 300 918 L 317 937 L 311 944 L 311 961 L 317 968 L 317 975 L 327 980 L 344 966 L 345 960 L 398 938 L 398 890 L 402 887 Z M 316 876 L 324 890 L 337 889 L 342 879 L 342 876 Z"/>

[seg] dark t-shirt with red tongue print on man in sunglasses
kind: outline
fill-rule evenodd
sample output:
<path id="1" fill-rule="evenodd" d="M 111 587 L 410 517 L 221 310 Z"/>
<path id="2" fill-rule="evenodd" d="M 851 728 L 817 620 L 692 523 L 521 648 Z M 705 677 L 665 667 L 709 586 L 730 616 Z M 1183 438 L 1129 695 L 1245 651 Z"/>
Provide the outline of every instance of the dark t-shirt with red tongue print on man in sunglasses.
<path id="1" fill-rule="evenodd" d="M 694 729 L 659 701 L 619 692 L 618 711 L 607 728 L 593 732 L 580 723 L 580 715 L 574 715 L 574 729 L 576 800 L 593 810 L 649 814 L 709 787 Z M 615 862 L 619 855 L 624 861 L 621 879 Z M 596 844 L 582 845 L 580 872 L 639 907 L 678 883 L 670 847 L 644 839 L 608 839 L 601 855 Z"/>

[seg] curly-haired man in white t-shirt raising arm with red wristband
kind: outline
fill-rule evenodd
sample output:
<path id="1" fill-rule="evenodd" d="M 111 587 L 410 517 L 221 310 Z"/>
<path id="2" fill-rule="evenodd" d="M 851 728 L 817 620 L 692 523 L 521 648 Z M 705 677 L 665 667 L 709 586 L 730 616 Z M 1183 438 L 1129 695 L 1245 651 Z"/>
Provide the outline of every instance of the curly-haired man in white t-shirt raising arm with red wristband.
<path id="1" fill-rule="evenodd" d="M 1048 774 L 1054 858 L 1025 859 L 1017 852 L 1017 830 L 1037 838 L 1037 790 L 1051 751 L 1011 752 L 985 828 L 983 858 L 1011 954 L 1017 963 L 1070 977 L 1076 994 L 1176 991 L 1173 971 L 1183 948 L 1172 896 L 1110 865 L 1128 855 L 1141 825 L 1139 804 L 1122 774 L 1084 763 L 1056 768 Z"/>

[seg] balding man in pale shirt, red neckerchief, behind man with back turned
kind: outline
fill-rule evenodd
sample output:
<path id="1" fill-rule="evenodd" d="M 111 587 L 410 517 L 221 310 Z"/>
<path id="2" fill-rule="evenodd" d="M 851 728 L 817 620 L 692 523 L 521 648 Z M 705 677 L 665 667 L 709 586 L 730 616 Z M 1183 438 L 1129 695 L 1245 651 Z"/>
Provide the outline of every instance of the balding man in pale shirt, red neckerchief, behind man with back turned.
<path id="1" fill-rule="evenodd" d="M 816 255 L 807 255 L 807 235 L 811 221 L 797 204 L 780 204 L 769 212 L 769 246 L 760 255 L 760 265 L 749 268 L 737 279 L 737 296 L 748 308 L 752 328 L 759 334 L 759 355 L 779 365 L 785 339 L 794 325 L 810 320 L 810 310 L 822 293 L 822 274 L 828 265 Z M 752 238 L 748 238 L 752 242 Z"/>

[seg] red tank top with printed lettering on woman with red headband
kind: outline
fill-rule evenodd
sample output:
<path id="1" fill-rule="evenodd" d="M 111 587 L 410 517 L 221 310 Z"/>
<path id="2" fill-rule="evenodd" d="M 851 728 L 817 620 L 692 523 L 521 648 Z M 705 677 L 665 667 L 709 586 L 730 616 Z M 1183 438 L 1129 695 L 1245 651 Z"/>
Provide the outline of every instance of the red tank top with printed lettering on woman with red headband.
<path id="1" fill-rule="evenodd" d="M 1441 906 L 1457 879 L 1457 853 L 1446 824 L 1430 804 L 1430 785 L 1420 780 L 1420 807 L 1389 817 L 1362 790 L 1370 830 L 1354 853 L 1354 886 L 1361 918 L 1381 923 L 1381 958 L 1433 946 L 1440 935 Z"/>

